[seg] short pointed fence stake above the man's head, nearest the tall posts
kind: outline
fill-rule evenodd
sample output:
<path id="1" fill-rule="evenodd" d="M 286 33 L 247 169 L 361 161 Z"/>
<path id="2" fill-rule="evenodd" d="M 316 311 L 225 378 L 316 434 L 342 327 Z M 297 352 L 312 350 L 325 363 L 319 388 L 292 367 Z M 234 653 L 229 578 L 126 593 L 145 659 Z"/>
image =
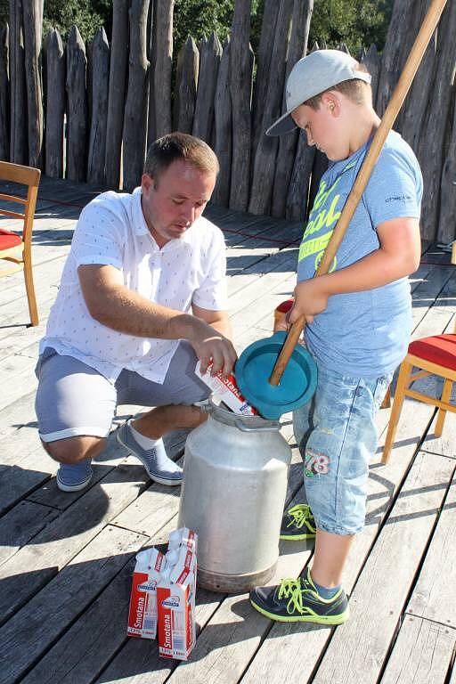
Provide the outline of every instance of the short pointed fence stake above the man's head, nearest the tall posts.
<path id="1" fill-rule="evenodd" d="M 198 71 L 198 47 L 189 36 L 177 56 L 175 75 L 174 127 L 181 133 L 190 134 L 193 127 Z"/>

